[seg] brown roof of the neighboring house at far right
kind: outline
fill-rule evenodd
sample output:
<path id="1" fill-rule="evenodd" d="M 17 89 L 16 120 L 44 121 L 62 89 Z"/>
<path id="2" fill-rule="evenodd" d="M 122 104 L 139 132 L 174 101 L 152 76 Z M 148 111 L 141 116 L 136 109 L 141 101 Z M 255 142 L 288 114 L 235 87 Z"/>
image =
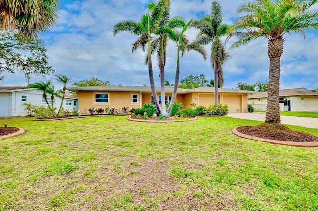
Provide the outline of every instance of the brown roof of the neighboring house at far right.
<path id="1" fill-rule="evenodd" d="M 255 99 L 255 98 L 267 98 L 267 91 L 265 92 L 257 92 L 252 95 L 248 96 L 248 99 Z M 318 95 L 317 92 L 312 92 L 306 88 L 295 88 L 295 89 L 282 89 L 279 90 L 279 97 L 290 97 L 290 96 L 299 96 L 299 95 L 310 95 L 316 96 Z"/>

